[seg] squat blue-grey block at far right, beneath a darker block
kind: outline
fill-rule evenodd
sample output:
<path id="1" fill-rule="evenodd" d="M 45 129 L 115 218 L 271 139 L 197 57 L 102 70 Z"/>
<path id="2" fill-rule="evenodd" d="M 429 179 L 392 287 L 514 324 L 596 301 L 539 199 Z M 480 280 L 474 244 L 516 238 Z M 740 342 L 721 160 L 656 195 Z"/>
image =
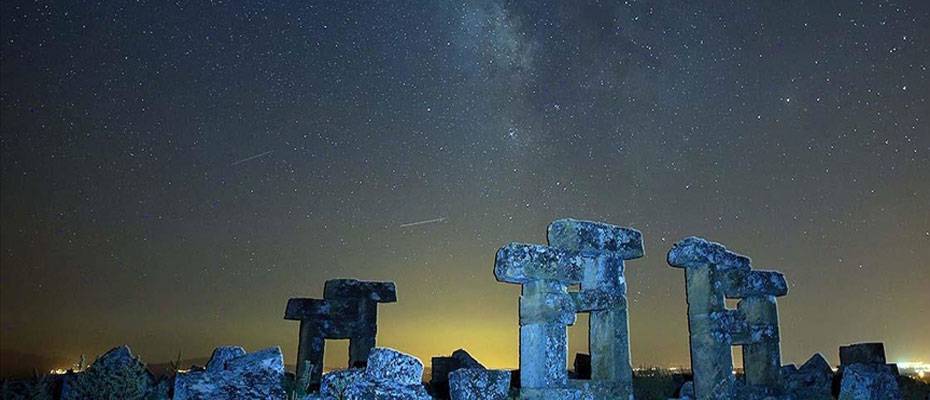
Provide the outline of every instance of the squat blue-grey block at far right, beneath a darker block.
<path id="1" fill-rule="evenodd" d="M 900 399 L 897 376 L 885 364 L 851 364 L 843 367 L 839 400 Z"/>

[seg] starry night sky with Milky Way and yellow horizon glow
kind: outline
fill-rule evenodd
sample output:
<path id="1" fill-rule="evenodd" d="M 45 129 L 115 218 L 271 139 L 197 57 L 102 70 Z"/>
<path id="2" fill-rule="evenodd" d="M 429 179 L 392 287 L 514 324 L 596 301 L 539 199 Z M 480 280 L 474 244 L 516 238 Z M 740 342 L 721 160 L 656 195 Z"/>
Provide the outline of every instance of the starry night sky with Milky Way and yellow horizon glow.
<path id="1" fill-rule="evenodd" d="M 494 254 L 575 217 L 644 234 L 634 365 L 689 362 L 689 235 L 785 273 L 785 363 L 930 362 L 930 2 L 344 3 L 0 4 L 5 351 L 291 363 L 355 277 L 379 344 L 516 367 Z"/>

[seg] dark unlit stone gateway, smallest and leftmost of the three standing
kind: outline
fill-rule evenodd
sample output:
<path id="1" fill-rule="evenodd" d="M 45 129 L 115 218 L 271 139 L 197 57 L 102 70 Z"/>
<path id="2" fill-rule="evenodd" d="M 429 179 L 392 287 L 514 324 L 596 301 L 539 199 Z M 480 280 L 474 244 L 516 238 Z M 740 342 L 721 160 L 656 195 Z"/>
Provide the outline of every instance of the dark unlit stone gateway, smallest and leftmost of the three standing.
<path id="1" fill-rule="evenodd" d="M 326 339 L 349 339 L 349 367 L 364 367 L 375 347 L 378 303 L 397 301 L 394 282 L 332 279 L 322 299 L 294 298 L 287 302 L 284 319 L 300 321 L 297 376 L 309 376 L 317 387 L 323 374 Z"/>

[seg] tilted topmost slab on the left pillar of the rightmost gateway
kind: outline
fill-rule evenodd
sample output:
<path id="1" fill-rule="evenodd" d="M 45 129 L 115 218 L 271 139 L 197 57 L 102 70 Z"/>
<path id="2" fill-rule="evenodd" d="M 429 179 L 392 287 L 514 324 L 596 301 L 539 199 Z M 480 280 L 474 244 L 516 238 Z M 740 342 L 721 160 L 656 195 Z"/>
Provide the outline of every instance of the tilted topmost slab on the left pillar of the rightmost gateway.
<path id="1" fill-rule="evenodd" d="M 676 268 L 716 265 L 718 270 L 749 270 L 749 257 L 727 250 L 720 243 L 696 236 L 680 240 L 668 251 L 668 264 Z"/>

